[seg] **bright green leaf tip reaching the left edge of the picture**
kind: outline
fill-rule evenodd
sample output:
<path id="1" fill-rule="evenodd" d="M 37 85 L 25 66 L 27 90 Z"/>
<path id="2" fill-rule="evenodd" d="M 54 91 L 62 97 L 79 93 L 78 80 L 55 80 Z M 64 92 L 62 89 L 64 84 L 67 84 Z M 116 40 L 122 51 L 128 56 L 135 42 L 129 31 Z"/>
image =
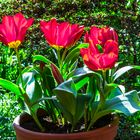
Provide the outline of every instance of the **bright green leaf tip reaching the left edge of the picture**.
<path id="1" fill-rule="evenodd" d="M 17 86 L 16 84 L 14 84 L 14 83 L 12 83 L 8 80 L 0 78 L 0 86 L 2 86 L 3 88 L 5 88 L 7 90 L 10 90 L 11 92 L 15 93 L 18 97 L 20 95 L 22 95 L 19 86 Z"/>

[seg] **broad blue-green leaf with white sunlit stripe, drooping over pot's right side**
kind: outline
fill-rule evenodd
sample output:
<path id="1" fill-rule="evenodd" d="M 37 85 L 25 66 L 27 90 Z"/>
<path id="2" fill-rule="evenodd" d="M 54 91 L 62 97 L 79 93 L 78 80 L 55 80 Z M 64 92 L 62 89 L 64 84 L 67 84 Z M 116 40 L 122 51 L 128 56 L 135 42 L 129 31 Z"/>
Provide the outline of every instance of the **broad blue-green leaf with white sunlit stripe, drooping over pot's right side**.
<path id="1" fill-rule="evenodd" d="M 96 108 L 96 104 L 94 103 L 93 105 L 93 115 L 94 115 L 94 110 Z M 130 91 L 128 93 L 125 93 L 125 96 L 123 94 L 116 96 L 110 100 L 107 100 L 105 102 L 105 105 L 102 110 L 100 110 L 94 118 L 91 120 L 91 123 L 94 124 L 99 118 L 117 111 L 124 113 L 127 116 L 132 115 L 133 113 L 137 112 L 140 110 L 140 99 L 136 91 Z"/>

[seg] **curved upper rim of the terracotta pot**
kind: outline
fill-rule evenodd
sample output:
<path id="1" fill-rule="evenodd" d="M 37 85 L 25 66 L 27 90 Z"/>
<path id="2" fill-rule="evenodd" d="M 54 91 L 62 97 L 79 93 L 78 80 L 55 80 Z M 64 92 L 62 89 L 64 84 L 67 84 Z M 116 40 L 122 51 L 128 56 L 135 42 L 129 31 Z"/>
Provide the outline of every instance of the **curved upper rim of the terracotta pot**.
<path id="1" fill-rule="evenodd" d="M 24 115 L 24 113 L 21 114 L 21 115 Z M 14 119 L 14 121 L 13 121 L 14 128 L 18 129 L 19 131 L 24 131 L 26 134 L 43 135 L 43 136 L 46 136 L 46 135 L 47 136 L 55 135 L 56 138 L 57 137 L 60 137 L 60 136 L 68 136 L 68 135 L 73 137 L 73 136 L 76 136 L 78 134 L 85 136 L 87 134 L 90 135 L 90 134 L 93 134 L 94 133 L 94 135 L 98 135 L 98 132 L 99 131 L 102 131 L 103 133 L 107 133 L 110 130 L 110 128 L 117 129 L 118 128 L 118 124 L 119 124 L 119 118 L 118 118 L 118 116 L 115 116 L 114 117 L 114 120 L 112 121 L 112 123 L 110 123 L 110 124 L 108 124 L 106 126 L 103 126 L 101 128 L 93 129 L 93 130 L 90 130 L 90 131 L 77 132 L 77 133 L 42 133 L 42 132 L 31 131 L 31 130 L 28 130 L 28 129 L 25 129 L 25 128 L 21 127 L 20 126 L 20 123 L 19 123 L 20 122 L 20 119 L 21 119 L 20 118 L 21 115 L 18 115 Z M 106 131 L 104 131 L 104 130 L 106 130 Z"/>

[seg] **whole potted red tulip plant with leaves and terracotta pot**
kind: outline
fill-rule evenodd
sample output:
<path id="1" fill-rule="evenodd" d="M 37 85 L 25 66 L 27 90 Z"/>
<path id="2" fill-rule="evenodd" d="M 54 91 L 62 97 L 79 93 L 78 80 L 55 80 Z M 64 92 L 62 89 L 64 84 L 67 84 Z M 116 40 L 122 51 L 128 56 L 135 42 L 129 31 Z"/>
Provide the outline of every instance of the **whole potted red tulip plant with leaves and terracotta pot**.
<path id="1" fill-rule="evenodd" d="M 92 26 L 85 43 L 77 45 L 84 26 L 51 19 L 41 21 L 40 27 L 55 61 L 35 55 L 33 65 L 23 68 L 19 45 L 32 23 L 18 13 L 5 16 L 0 24 L 0 40 L 15 50 L 19 68 L 17 83 L 0 78 L 0 85 L 14 92 L 26 108 L 13 123 L 17 140 L 113 140 L 116 114 L 131 115 L 140 109 L 138 92 L 126 93 L 115 82 L 140 66 L 118 69 L 114 29 Z"/>

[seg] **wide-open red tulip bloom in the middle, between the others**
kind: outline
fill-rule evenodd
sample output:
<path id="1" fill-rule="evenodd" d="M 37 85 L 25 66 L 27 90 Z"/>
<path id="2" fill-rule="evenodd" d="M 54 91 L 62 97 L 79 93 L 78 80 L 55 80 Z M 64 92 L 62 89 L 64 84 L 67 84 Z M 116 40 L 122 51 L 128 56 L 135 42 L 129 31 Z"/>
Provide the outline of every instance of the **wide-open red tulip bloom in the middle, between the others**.
<path id="1" fill-rule="evenodd" d="M 73 46 L 80 39 L 84 30 L 84 26 L 68 22 L 57 23 L 56 19 L 49 22 L 41 21 L 40 26 L 48 44 L 56 49 Z"/>

